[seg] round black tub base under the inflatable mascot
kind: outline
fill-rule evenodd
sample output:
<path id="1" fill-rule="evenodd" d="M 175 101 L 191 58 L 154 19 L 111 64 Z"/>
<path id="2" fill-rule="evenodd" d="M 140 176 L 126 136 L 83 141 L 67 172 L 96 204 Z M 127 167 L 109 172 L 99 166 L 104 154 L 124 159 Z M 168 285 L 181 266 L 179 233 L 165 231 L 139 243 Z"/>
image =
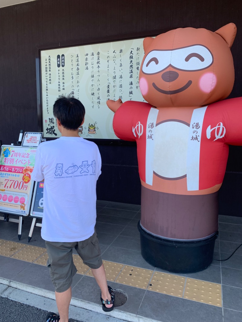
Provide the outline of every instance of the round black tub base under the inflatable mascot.
<path id="1" fill-rule="evenodd" d="M 141 254 L 152 266 L 173 273 L 195 273 L 205 270 L 213 260 L 218 236 L 195 241 L 170 240 L 146 232 L 138 222 Z"/>

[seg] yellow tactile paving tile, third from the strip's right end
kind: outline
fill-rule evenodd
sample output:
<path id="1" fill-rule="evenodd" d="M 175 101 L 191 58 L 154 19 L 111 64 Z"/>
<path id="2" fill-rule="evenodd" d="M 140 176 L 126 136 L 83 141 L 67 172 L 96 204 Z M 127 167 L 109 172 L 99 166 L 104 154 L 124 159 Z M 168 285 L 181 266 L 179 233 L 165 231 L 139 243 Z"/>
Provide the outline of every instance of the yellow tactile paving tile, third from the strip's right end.
<path id="1" fill-rule="evenodd" d="M 146 270 L 143 268 L 126 265 L 122 269 L 115 282 L 138 287 L 140 289 L 146 289 L 152 274 L 153 270 Z"/>

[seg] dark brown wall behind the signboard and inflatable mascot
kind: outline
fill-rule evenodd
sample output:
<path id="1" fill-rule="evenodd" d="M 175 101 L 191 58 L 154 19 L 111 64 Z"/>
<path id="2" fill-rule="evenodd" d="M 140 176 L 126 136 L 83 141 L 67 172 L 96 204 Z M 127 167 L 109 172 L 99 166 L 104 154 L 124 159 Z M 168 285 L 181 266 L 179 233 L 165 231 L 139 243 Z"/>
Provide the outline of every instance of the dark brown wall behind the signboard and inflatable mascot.
<path id="1" fill-rule="evenodd" d="M 235 86 L 230 97 L 242 96 L 242 2 L 240 0 L 36 0 L 0 8 L 0 140 L 16 142 L 19 130 L 37 131 L 35 56 L 37 47 L 81 44 L 156 34 L 177 27 L 215 31 L 234 22 L 238 32 L 232 46 Z M 103 174 L 99 199 L 140 202 L 136 147 L 100 146 Z M 230 149 L 227 170 L 242 173 L 242 148 Z M 220 209 L 238 197 L 226 174 Z M 239 187 L 239 176 L 237 186 Z M 128 180 L 128 181 L 127 181 Z M 132 197 L 133 196 L 133 197 Z M 240 215 L 241 198 L 231 204 Z M 228 213 L 229 214 L 229 213 Z"/>

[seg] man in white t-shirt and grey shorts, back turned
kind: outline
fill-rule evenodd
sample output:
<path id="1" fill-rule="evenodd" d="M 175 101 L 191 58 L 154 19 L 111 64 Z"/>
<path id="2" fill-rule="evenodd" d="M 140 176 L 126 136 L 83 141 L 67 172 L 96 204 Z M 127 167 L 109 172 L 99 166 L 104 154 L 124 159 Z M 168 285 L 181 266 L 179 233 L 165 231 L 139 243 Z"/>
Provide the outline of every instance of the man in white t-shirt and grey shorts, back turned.
<path id="1" fill-rule="evenodd" d="M 61 96 L 53 113 L 61 137 L 37 148 L 32 177 L 44 184 L 44 215 L 41 237 L 45 240 L 59 315 L 49 312 L 44 322 L 68 322 L 71 283 L 77 270 L 72 259 L 75 247 L 101 289 L 103 310 L 114 306 L 114 292 L 107 286 L 95 231 L 96 181 L 101 156 L 94 142 L 78 135 L 85 108 L 73 97 Z"/>

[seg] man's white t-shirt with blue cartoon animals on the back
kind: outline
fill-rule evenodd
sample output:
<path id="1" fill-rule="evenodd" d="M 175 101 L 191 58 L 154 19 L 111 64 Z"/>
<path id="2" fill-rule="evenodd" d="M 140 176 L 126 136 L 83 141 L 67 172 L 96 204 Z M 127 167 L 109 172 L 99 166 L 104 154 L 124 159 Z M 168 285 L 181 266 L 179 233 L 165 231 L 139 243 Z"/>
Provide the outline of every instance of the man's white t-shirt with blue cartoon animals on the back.
<path id="1" fill-rule="evenodd" d="M 38 146 L 32 178 L 45 179 L 44 240 L 78 242 L 93 235 L 100 174 L 101 156 L 94 142 L 60 137 Z"/>

